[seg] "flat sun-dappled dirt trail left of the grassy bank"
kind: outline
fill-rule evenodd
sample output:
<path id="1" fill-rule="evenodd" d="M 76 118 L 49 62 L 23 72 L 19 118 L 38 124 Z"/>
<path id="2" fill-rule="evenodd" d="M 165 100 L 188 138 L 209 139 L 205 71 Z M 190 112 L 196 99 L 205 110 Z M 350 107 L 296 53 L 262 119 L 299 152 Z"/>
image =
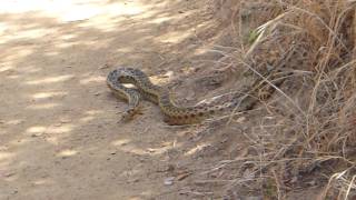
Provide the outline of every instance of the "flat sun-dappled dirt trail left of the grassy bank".
<path id="1" fill-rule="evenodd" d="M 188 62 L 184 53 L 196 48 L 192 27 L 206 21 L 198 7 L 158 0 L 4 3 L 0 199 L 182 198 L 164 184 L 176 129 L 150 103 L 137 120 L 117 123 L 126 103 L 110 94 L 105 79 L 119 64 L 160 74 L 152 77 L 157 82 L 179 78 L 177 67 Z"/>

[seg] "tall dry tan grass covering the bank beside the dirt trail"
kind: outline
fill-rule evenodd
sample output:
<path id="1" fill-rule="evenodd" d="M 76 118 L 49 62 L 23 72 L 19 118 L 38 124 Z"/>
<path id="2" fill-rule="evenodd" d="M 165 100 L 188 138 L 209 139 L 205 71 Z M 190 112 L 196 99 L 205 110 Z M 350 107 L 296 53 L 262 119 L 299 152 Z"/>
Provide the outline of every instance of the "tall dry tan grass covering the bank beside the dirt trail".
<path id="1" fill-rule="evenodd" d="M 270 68 L 271 48 L 280 47 L 281 59 L 291 52 L 283 66 L 294 74 L 264 102 L 264 111 L 257 110 L 264 114 L 246 132 L 247 156 L 219 163 L 219 169 L 239 163 L 243 174 L 226 189 L 234 193 L 254 181 L 259 183 L 255 191 L 278 199 L 303 188 L 318 189 L 320 199 L 356 198 L 356 2 L 265 0 L 258 8 L 255 3 L 231 3 L 235 27 L 243 29 L 247 18 L 258 24 L 247 34 L 237 31 L 248 38 L 244 53 L 239 51 L 248 58 L 235 58 L 235 64 L 247 59 L 255 63 L 247 69 L 260 72 L 264 68 L 256 63 Z"/>

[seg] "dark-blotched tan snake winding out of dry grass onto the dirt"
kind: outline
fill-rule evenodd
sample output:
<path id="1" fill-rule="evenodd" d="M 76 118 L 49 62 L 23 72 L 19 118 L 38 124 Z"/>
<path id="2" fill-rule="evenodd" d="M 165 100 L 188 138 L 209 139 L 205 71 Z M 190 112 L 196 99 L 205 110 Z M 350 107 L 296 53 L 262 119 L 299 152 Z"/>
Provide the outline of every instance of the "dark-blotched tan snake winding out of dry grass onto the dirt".
<path id="1" fill-rule="evenodd" d="M 136 88 L 128 88 L 125 83 L 131 83 Z M 233 108 L 235 103 L 221 106 L 195 106 L 180 107 L 172 100 L 169 89 L 154 84 L 147 74 L 135 68 L 119 68 L 109 72 L 107 84 L 110 90 L 121 99 L 128 101 L 122 119 L 131 119 L 139 111 L 142 99 L 157 103 L 165 116 L 165 121 L 169 124 L 189 124 L 200 122 L 208 116 L 217 111 Z"/>

